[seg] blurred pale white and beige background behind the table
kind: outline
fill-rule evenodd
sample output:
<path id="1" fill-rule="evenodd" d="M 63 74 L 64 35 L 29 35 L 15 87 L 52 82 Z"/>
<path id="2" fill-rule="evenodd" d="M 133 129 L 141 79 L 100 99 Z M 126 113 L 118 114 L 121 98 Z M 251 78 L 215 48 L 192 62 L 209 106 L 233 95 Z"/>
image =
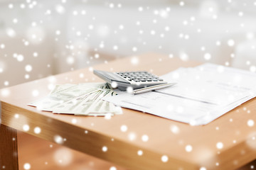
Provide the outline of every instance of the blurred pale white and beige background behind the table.
<path id="1" fill-rule="evenodd" d="M 256 71 L 254 0 L 0 0 L 0 88 L 159 52 Z"/>

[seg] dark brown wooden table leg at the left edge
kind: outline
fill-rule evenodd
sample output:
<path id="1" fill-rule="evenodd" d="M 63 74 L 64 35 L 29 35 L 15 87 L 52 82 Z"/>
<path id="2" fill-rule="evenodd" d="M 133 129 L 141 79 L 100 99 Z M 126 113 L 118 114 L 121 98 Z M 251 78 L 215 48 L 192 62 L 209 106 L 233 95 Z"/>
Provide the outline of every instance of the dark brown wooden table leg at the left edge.
<path id="1" fill-rule="evenodd" d="M 18 170 L 17 130 L 1 124 L 0 169 Z"/>

